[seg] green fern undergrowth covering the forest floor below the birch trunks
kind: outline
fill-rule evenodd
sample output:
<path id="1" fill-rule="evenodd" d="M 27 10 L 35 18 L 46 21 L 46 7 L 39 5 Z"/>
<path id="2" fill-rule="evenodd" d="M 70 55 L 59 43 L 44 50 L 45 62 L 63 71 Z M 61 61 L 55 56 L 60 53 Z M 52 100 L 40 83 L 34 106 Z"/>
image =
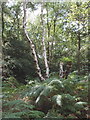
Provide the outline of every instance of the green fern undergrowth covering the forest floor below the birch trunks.
<path id="1" fill-rule="evenodd" d="M 83 118 L 88 111 L 88 76 L 3 82 L 3 118 Z"/>

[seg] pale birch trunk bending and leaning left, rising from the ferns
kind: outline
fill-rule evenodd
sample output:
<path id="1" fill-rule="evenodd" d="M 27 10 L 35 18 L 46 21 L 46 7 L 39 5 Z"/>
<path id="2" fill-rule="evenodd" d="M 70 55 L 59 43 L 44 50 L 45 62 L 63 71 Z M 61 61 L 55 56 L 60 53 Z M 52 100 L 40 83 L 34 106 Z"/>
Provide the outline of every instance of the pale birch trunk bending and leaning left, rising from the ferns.
<path id="1" fill-rule="evenodd" d="M 32 54 L 33 54 L 33 57 L 34 57 L 34 61 L 35 61 L 35 65 L 36 65 L 36 69 L 37 69 L 37 74 L 40 78 L 41 81 L 45 80 L 44 77 L 42 76 L 41 74 L 41 69 L 39 67 L 39 62 L 38 62 L 38 58 L 37 58 L 37 54 L 36 54 L 36 51 L 35 51 L 35 46 L 32 42 L 32 40 L 30 39 L 29 35 L 28 35 L 28 32 L 26 30 L 26 1 L 23 3 L 23 10 L 24 10 L 24 17 L 23 17 L 23 28 L 24 28 L 24 33 L 25 33 L 25 36 L 27 38 L 27 40 L 29 41 L 30 43 L 30 47 L 31 47 L 31 50 L 32 50 Z"/>

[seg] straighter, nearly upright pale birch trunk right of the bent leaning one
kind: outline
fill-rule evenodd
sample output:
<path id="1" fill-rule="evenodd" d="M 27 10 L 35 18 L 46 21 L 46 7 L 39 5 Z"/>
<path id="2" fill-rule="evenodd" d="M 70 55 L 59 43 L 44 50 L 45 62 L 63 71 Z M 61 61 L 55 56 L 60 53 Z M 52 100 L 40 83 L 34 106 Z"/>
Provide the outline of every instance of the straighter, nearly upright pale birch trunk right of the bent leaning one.
<path id="1" fill-rule="evenodd" d="M 44 55 L 44 63 L 46 68 L 46 78 L 49 78 L 49 66 L 47 61 L 47 51 L 45 46 L 45 26 L 44 26 L 44 16 L 43 16 L 43 8 L 44 2 L 41 4 L 41 23 L 42 23 L 42 45 L 43 45 L 43 55 Z"/>

